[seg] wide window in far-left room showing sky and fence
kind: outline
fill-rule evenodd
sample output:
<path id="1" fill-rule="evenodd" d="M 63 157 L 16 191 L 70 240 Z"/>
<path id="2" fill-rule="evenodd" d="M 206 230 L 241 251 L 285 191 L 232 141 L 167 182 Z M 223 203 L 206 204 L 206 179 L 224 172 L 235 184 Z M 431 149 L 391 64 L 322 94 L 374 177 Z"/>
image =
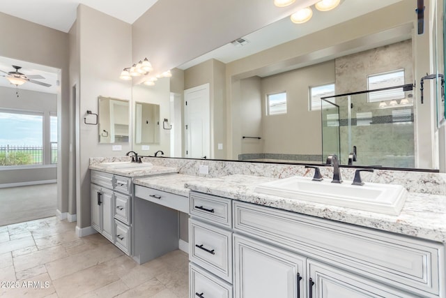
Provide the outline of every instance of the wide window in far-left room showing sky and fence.
<path id="1" fill-rule="evenodd" d="M 0 166 L 43 164 L 43 114 L 0 110 Z"/>

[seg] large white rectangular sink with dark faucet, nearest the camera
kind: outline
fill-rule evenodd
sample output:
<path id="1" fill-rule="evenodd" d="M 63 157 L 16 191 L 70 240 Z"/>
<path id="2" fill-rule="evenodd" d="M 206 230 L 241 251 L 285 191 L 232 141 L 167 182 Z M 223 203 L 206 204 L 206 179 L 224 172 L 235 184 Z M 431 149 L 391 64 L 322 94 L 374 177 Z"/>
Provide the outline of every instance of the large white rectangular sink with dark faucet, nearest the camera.
<path id="1" fill-rule="evenodd" d="M 312 181 L 307 177 L 289 177 L 259 184 L 254 191 L 282 198 L 317 202 L 339 207 L 399 215 L 408 192 L 401 185 L 366 183 L 363 186 L 327 181 Z"/>

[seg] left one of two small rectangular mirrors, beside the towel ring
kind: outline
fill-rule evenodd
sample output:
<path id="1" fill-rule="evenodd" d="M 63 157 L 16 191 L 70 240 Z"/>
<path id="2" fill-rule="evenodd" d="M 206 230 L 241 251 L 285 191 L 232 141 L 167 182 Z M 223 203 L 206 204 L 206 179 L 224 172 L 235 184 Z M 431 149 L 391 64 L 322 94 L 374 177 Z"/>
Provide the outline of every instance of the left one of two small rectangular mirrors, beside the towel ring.
<path id="1" fill-rule="evenodd" d="M 129 142 L 129 101 L 99 96 L 99 142 Z"/>

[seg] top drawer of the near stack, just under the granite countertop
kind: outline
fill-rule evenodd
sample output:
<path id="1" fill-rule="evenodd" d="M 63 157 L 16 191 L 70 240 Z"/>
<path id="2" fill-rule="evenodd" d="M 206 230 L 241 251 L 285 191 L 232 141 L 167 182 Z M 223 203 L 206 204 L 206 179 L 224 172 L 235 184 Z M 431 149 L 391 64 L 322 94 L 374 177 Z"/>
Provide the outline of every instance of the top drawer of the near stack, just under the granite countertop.
<path id="1" fill-rule="evenodd" d="M 231 200 L 190 192 L 190 215 L 232 228 Z"/>

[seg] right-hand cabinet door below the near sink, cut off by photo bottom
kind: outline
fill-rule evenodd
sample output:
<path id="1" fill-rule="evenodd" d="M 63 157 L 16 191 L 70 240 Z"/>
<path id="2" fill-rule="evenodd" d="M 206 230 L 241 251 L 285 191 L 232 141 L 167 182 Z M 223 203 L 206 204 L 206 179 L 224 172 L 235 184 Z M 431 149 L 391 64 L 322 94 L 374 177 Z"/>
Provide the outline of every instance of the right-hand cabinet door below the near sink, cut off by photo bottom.
<path id="1" fill-rule="evenodd" d="M 314 260 L 307 267 L 309 298 L 416 297 Z"/>

